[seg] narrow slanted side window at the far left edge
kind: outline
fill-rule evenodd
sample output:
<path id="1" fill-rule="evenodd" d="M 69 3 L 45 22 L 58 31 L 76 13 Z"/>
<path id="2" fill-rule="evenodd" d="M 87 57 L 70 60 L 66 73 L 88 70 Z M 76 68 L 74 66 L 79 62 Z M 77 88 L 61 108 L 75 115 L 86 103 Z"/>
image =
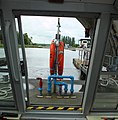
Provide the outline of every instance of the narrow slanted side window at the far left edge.
<path id="1" fill-rule="evenodd" d="M 0 26 L 0 107 L 13 107 L 14 99 Z"/>

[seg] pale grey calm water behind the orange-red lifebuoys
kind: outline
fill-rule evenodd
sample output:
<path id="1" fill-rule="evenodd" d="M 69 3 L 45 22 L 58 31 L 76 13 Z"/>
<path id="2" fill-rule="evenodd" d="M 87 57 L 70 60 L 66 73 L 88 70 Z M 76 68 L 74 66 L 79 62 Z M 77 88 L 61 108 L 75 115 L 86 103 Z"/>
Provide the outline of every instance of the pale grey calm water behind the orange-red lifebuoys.
<path id="1" fill-rule="evenodd" d="M 42 77 L 47 79 L 49 73 L 49 49 L 46 48 L 26 48 L 26 58 L 28 65 L 28 77 Z M 21 49 L 19 49 L 20 58 L 22 59 Z M 0 57 L 4 57 L 4 50 L 0 48 Z M 64 74 L 72 75 L 78 80 L 79 71 L 73 65 L 73 58 L 78 57 L 77 51 L 64 51 Z"/>

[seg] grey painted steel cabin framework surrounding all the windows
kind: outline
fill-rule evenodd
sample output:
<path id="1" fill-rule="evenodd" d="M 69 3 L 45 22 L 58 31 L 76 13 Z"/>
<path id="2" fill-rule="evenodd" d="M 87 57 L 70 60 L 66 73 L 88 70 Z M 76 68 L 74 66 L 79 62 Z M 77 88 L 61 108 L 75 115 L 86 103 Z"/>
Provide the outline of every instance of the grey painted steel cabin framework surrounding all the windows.
<path id="1" fill-rule="evenodd" d="M 5 44 L 5 52 L 13 89 L 14 102 L 8 103 L 8 107 L 0 105 L 0 112 L 14 112 L 23 114 L 23 118 L 36 119 L 78 119 L 84 120 L 86 115 L 118 115 L 118 111 L 91 112 L 96 86 L 99 79 L 100 69 L 105 51 L 106 41 L 113 19 L 118 18 L 118 0 L 65 0 L 63 4 L 49 3 L 48 0 L 0 0 L 1 28 Z M 82 112 L 78 111 L 32 111 L 27 110 L 25 102 L 23 82 L 20 68 L 20 57 L 16 37 L 15 18 L 18 19 L 20 38 L 23 41 L 21 15 L 45 15 L 45 16 L 68 16 L 76 18 L 97 19 L 93 36 L 93 50 L 91 53 L 90 66 L 82 103 Z M 84 23 L 83 23 L 84 24 Z M 102 43 L 102 44 L 101 44 Z M 24 48 L 24 42 L 22 42 Z M 99 47 L 100 46 L 100 47 Z M 22 49 L 23 59 L 27 66 L 25 50 Z M 27 67 L 25 69 L 27 73 Z M 26 74 L 26 90 L 28 91 L 28 75 Z M 20 98 L 20 99 L 19 99 Z M 7 104 L 3 101 L 4 104 Z M 11 108 L 10 105 L 13 105 Z"/>

